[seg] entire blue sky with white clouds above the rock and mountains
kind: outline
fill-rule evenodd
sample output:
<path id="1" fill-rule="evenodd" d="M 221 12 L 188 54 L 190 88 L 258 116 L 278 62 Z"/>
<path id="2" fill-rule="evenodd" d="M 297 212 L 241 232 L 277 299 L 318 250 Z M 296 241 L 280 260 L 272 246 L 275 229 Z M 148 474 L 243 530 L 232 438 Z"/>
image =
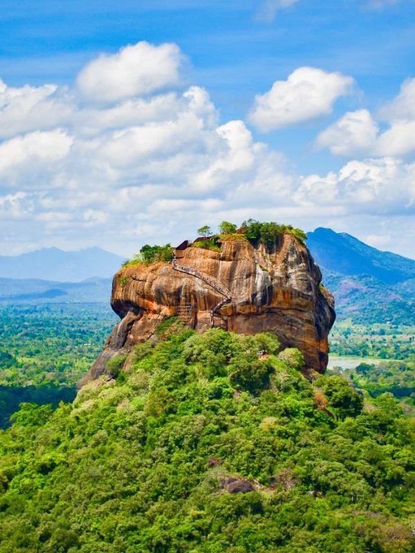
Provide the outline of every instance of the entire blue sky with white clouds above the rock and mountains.
<path id="1" fill-rule="evenodd" d="M 414 0 L 1 0 L 0 254 L 414 214 Z"/>

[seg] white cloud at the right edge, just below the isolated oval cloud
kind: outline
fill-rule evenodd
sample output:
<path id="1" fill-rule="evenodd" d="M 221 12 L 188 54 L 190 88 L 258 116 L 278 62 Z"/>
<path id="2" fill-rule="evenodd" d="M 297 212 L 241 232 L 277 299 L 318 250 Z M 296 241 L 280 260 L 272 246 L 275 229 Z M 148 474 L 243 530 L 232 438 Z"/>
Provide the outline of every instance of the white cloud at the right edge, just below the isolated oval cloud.
<path id="1" fill-rule="evenodd" d="M 389 128 L 381 131 L 376 118 L 362 109 L 346 113 L 318 135 L 317 147 L 340 156 L 407 156 L 415 151 L 415 79 L 378 113 Z"/>

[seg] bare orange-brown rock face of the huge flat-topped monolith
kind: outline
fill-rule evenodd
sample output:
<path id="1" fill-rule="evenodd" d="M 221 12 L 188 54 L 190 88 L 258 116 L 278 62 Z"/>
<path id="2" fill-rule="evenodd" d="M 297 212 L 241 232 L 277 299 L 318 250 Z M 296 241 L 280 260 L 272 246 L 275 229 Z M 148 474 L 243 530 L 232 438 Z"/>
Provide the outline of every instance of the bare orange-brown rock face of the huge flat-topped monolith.
<path id="1" fill-rule="evenodd" d="M 187 247 L 174 263 L 123 268 L 111 295 L 121 321 L 86 379 L 104 374 L 111 357 L 127 355 L 172 315 L 199 331 L 274 332 L 282 346 L 302 351 L 308 368 L 324 372 L 335 312 L 321 279 L 307 248 L 288 233 L 273 247 L 226 241 L 221 252 Z"/>

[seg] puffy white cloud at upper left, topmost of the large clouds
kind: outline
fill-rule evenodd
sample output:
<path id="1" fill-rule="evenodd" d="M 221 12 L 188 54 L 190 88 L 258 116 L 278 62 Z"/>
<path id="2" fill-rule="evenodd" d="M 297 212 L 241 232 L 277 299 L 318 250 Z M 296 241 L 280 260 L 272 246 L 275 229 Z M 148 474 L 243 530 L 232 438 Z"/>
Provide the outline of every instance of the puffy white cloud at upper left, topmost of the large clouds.
<path id="1" fill-rule="evenodd" d="M 142 96 L 179 81 L 181 51 L 176 44 L 138 42 L 117 54 L 102 54 L 78 75 L 77 86 L 92 102 L 116 102 Z"/>

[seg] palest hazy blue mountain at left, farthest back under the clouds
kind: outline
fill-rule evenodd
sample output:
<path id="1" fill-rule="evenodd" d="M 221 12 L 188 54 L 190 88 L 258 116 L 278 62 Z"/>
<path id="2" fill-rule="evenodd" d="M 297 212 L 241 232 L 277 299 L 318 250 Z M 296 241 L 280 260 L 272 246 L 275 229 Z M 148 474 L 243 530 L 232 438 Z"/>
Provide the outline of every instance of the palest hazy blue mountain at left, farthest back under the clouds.
<path id="1" fill-rule="evenodd" d="M 122 256 L 106 252 L 100 247 L 89 247 L 77 252 L 47 247 L 28 254 L 0 256 L 0 278 L 59 282 L 110 278 L 123 261 Z"/>

